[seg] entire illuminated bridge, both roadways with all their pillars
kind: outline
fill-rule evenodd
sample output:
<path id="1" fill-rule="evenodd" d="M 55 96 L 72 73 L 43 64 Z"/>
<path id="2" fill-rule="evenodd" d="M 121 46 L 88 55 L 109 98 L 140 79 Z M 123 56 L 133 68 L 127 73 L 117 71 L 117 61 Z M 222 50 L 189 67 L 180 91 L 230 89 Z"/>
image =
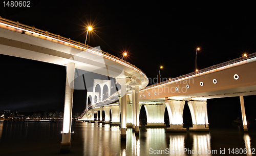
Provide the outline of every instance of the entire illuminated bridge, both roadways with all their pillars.
<path id="1" fill-rule="evenodd" d="M 208 131 L 207 99 L 233 96 L 240 96 L 244 130 L 247 130 L 243 96 L 256 93 L 255 53 L 147 86 L 146 75 L 129 62 L 70 38 L 0 17 L 0 54 L 67 67 L 62 153 L 69 152 L 71 145 L 73 90 L 77 88 L 74 80 L 82 80 L 79 77 L 87 72 L 113 79 L 94 80 L 87 95 L 91 103 L 87 102 L 79 120 L 93 121 L 95 112 L 101 114 L 104 109 L 105 123 L 112 118 L 113 124 L 119 124 L 121 118 L 122 139 L 126 139 L 127 126 L 139 134 L 141 105 L 145 105 L 147 126 L 165 126 L 166 107 L 170 121 L 167 131 L 184 131 L 182 114 L 188 101 L 193 120 L 190 130 Z"/>

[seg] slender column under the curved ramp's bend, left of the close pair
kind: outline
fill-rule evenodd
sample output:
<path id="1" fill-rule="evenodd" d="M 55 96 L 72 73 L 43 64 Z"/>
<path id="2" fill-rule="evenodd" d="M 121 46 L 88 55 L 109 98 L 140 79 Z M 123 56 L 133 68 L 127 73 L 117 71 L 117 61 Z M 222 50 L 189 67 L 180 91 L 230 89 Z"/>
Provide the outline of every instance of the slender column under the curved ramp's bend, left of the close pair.
<path id="1" fill-rule="evenodd" d="M 122 84 L 121 89 L 121 139 L 126 140 L 126 85 Z"/>

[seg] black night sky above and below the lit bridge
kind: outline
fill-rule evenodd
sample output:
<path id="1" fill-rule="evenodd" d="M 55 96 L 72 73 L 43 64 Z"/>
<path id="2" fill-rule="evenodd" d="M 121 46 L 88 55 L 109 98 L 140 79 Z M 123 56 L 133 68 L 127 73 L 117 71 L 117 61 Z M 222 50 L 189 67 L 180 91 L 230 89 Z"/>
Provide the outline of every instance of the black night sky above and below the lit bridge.
<path id="1" fill-rule="evenodd" d="M 174 78 L 256 52 L 255 9 L 247 3 L 172 1 L 31 1 L 31 7 L 4 7 L 0 16 L 84 42 L 138 66 L 148 78 Z M 66 69 L 34 60 L 0 56 L 0 109 L 19 112 L 63 110 Z M 150 82 L 154 84 L 154 82 Z M 156 82 L 155 82 L 156 83 Z M 255 118 L 255 96 L 245 97 L 247 116 Z M 217 105 L 241 112 L 238 97 L 207 101 L 209 121 Z M 83 112 L 86 91 L 74 91 L 73 113 Z M 248 109 L 248 110 L 247 110 Z M 251 114 L 251 115 L 250 115 Z M 210 117 L 212 116 L 212 117 Z M 232 118 L 241 118 L 241 113 Z M 249 120 L 249 119 L 248 119 Z M 253 119 L 250 119 L 253 120 Z"/>

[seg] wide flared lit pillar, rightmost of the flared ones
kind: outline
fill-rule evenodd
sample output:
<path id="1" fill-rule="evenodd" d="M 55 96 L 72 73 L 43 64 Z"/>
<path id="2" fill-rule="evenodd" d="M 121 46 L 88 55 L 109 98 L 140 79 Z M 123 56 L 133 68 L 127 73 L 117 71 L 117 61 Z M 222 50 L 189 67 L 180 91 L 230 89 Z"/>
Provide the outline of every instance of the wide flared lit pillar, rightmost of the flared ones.
<path id="1" fill-rule="evenodd" d="M 209 131 L 208 127 L 205 127 L 205 114 L 206 114 L 206 101 L 188 101 L 188 107 L 190 109 L 193 128 L 189 128 L 190 131 L 205 132 Z"/>

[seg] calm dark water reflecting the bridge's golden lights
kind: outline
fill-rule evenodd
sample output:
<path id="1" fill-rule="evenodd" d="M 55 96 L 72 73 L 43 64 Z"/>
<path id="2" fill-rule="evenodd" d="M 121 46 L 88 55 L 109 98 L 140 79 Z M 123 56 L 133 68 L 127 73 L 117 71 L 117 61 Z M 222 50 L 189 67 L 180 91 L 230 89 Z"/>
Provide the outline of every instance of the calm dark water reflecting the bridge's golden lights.
<path id="1" fill-rule="evenodd" d="M 142 128 L 139 136 L 129 128 L 127 141 L 121 143 L 118 126 L 72 124 L 71 153 L 65 155 L 232 155 L 232 149 L 236 154 L 236 149 L 244 153 L 245 148 L 256 148 L 256 132 L 244 133 L 239 128 L 210 129 L 209 133 L 165 133 L 164 128 Z M 59 154 L 61 129 L 62 122 L 58 121 L 0 121 L 0 155 L 62 155 Z M 190 150 L 191 154 L 184 150 Z"/>

